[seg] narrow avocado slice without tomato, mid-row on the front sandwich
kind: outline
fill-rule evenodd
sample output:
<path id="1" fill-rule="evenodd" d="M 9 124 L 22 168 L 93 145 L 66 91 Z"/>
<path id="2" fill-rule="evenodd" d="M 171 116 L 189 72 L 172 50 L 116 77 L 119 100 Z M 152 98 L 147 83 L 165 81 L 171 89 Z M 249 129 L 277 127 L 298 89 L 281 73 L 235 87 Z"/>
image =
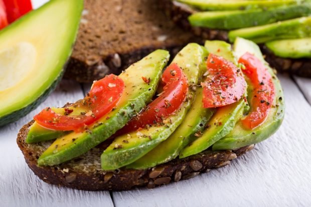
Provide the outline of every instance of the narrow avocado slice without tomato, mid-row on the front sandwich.
<path id="1" fill-rule="evenodd" d="M 207 121 L 216 111 L 214 108 L 203 108 L 202 91 L 202 87 L 197 88 L 196 98 L 191 109 L 174 133 L 140 159 L 127 165 L 127 168 L 145 169 L 170 161 L 176 158 L 189 142 L 198 137 L 198 134 L 204 130 Z"/>

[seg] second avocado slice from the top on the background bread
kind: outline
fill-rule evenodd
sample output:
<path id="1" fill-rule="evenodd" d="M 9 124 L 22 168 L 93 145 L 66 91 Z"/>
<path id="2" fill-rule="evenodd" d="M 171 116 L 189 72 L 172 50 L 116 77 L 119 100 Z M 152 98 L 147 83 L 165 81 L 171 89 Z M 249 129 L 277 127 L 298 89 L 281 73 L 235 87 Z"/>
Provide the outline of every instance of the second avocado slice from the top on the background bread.
<path id="1" fill-rule="evenodd" d="M 203 11 L 190 15 L 188 19 L 193 26 L 214 29 L 237 29 L 274 23 L 309 14 L 311 14 L 311 2 L 268 9 Z"/>

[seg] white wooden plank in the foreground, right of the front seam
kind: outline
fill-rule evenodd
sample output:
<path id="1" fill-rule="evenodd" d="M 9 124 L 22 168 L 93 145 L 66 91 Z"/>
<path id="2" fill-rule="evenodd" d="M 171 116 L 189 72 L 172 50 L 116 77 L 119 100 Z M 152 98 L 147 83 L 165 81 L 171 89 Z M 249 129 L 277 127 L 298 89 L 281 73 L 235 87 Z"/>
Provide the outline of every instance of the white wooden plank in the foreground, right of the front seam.
<path id="1" fill-rule="evenodd" d="M 115 205 L 310 206 L 311 107 L 289 77 L 279 77 L 286 114 L 272 137 L 230 165 L 192 179 L 154 189 L 113 192 Z"/>

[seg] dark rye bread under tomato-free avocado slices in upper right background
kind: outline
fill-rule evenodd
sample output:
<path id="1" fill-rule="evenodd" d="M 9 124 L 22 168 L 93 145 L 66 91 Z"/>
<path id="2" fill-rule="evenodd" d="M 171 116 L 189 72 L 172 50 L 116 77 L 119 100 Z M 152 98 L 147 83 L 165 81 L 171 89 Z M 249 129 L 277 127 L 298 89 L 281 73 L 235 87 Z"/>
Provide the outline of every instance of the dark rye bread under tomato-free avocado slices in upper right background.
<path id="1" fill-rule="evenodd" d="M 184 3 L 176 0 L 160 0 L 161 7 L 166 12 L 167 16 L 180 27 L 186 31 L 191 31 L 197 36 L 204 39 L 220 39 L 228 40 L 228 31 L 216 30 L 204 27 L 196 27 L 190 25 L 188 16 L 196 11 L 195 8 L 190 7 Z M 263 44 L 259 45 L 265 56 L 266 61 L 280 72 L 289 72 L 302 77 L 311 77 L 311 59 L 310 58 L 282 58 L 275 56 L 272 51 L 266 48 Z"/>

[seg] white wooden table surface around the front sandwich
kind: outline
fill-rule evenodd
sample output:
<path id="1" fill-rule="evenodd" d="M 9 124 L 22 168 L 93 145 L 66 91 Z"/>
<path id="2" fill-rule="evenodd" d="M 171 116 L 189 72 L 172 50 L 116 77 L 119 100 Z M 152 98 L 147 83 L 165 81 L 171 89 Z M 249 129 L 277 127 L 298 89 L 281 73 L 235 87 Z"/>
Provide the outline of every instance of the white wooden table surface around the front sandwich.
<path id="1" fill-rule="evenodd" d="M 311 79 L 278 77 L 286 114 L 269 139 L 209 173 L 154 189 L 123 192 L 57 187 L 41 181 L 28 168 L 16 143 L 19 128 L 45 106 L 62 106 L 88 90 L 87 85 L 63 80 L 36 110 L 0 127 L 0 206 L 311 206 Z"/>

